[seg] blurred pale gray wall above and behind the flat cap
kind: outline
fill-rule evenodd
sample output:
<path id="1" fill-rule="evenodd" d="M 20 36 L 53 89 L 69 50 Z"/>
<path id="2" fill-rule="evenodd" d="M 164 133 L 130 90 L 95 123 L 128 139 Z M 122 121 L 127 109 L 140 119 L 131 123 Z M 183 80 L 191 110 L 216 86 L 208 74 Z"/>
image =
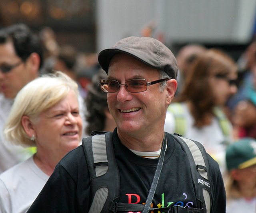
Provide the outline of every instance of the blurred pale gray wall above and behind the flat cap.
<path id="1" fill-rule="evenodd" d="M 97 0 L 97 51 L 127 36 L 152 37 L 168 46 L 202 42 L 246 44 L 252 36 L 256 0 Z"/>

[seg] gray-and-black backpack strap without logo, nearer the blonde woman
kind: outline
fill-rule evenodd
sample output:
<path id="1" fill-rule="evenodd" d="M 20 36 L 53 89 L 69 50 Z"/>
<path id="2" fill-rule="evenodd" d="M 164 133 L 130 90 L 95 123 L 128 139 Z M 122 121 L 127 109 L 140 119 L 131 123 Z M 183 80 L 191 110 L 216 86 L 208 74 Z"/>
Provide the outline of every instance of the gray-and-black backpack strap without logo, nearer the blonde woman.
<path id="1" fill-rule="evenodd" d="M 114 155 L 112 132 L 92 134 L 82 139 L 92 190 L 89 213 L 108 213 L 110 203 L 117 201 L 120 193 L 120 177 Z"/>

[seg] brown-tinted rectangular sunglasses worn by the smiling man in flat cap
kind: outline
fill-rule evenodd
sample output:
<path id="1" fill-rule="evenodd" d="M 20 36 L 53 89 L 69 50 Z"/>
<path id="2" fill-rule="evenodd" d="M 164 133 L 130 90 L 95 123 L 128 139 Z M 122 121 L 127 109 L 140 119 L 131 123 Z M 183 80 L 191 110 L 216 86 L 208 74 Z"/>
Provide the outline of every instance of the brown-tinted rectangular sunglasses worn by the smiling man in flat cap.
<path id="1" fill-rule="evenodd" d="M 134 79 L 126 81 L 124 84 L 120 84 L 116 80 L 102 79 L 98 83 L 103 92 L 117 92 L 121 85 L 124 85 L 128 92 L 144 92 L 148 89 L 148 86 L 158 84 L 160 82 L 168 81 L 170 78 L 164 78 L 153 82 L 146 82 L 145 79 Z"/>

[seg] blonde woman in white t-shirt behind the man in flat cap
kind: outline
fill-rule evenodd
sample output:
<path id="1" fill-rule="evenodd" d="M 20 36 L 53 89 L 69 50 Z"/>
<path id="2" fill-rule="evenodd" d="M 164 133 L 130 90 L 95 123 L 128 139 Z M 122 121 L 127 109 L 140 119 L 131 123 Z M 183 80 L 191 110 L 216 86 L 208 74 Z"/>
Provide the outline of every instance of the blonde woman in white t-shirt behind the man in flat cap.
<path id="1" fill-rule="evenodd" d="M 60 159 L 78 147 L 82 119 L 78 86 L 56 72 L 27 84 L 18 93 L 4 134 L 12 143 L 35 146 L 28 160 L 0 175 L 0 212 L 26 212 Z"/>

